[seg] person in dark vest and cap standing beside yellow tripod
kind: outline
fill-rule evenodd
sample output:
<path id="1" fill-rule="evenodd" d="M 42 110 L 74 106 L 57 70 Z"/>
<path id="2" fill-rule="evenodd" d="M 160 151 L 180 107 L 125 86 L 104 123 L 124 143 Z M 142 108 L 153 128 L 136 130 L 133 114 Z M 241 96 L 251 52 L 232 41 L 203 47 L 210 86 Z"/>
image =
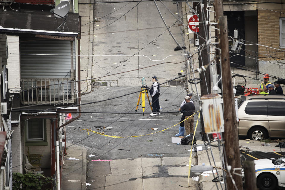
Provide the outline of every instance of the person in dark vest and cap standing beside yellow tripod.
<path id="1" fill-rule="evenodd" d="M 152 105 L 152 112 L 151 116 L 154 116 L 154 115 L 160 115 L 159 113 L 159 95 L 160 95 L 160 92 L 159 92 L 159 83 L 156 82 L 158 81 L 157 77 L 156 76 L 153 76 L 152 78 L 152 85 L 151 85 L 151 88 L 149 89 L 149 94 L 151 95 L 151 105 Z"/>

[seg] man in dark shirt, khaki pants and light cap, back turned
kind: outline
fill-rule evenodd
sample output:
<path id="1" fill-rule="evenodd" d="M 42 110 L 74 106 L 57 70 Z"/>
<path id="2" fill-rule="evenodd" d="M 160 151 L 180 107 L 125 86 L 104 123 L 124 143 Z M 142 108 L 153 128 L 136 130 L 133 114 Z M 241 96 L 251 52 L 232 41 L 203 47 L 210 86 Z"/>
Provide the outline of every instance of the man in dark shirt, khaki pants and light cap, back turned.
<path id="1" fill-rule="evenodd" d="M 184 104 L 182 107 L 179 108 L 179 111 L 183 113 L 182 117 L 187 118 L 184 121 L 184 128 L 186 131 L 186 136 L 190 133 L 194 133 L 194 116 L 193 115 L 195 111 L 194 103 L 190 102 L 190 96 L 185 97 L 186 104 Z M 188 118 L 191 116 L 190 118 Z"/>

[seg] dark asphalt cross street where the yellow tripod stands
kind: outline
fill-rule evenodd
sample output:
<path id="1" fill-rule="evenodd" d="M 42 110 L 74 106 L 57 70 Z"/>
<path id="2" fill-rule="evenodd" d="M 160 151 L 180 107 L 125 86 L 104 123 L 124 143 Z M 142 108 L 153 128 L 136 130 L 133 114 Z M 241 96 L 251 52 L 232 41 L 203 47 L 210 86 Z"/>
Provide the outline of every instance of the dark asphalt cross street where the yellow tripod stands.
<path id="1" fill-rule="evenodd" d="M 90 94 L 82 96 L 82 104 L 110 99 L 139 90 L 140 87 L 94 88 Z M 162 112 L 176 112 L 178 107 L 174 105 L 180 105 L 186 94 L 185 88 L 181 86 L 161 87 L 159 102 L 162 106 Z M 139 92 L 108 101 L 83 105 L 81 111 L 95 113 L 82 113 L 80 119 L 66 126 L 68 142 L 88 147 L 88 154 L 96 155 L 97 159 L 138 158 L 138 156 L 183 157 L 185 150 L 190 149 L 189 145 L 171 143 L 171 137 L 175 137 L 174 134 L 178 133 L 178 123 L 182 114 L 176 112 L 150 116 L 148 104 L 145 106 L 144 115 L 141 113 L 141 105 L 135 113 L 138 97 Z M 195 103 L 196 108 L 199 108 L 198 101 Z M 196 124 L 197 115 L 194 119 L 194 124 Z M 167 129 L 175 124 L 178 125 Z M 113 129 L 107 130 L 104 126 Z M 151 128 L 158 128 L 158 130 L 151 130 Z M 87 131 L 82 129 L 91 129 L 100 133 L 104 132 L 106 135 L 124 138 L 106 137 L 93 132 L 89 132 L 89 136 Z M 163 129 L 167 130 L 158 132 Z M 157 133 L 150 134 L 153 132 Z M 129 137 L 138 135 L 144 136 Z M 201 139 L 199 124 L 195 136 L 197 139 Z M 185 157 L 187 156 L 188 154 L 185 155 Z"/>

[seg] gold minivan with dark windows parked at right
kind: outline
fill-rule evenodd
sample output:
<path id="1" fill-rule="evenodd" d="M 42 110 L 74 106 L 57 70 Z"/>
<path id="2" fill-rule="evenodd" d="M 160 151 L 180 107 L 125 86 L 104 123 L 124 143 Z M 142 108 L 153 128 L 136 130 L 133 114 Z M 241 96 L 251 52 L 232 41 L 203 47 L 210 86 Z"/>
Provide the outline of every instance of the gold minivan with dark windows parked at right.
<path id="1" fill-rule="evenodd" d="M 285 138 L 285 96 L 241 96 L 238 134 L 252 140 Z"/>

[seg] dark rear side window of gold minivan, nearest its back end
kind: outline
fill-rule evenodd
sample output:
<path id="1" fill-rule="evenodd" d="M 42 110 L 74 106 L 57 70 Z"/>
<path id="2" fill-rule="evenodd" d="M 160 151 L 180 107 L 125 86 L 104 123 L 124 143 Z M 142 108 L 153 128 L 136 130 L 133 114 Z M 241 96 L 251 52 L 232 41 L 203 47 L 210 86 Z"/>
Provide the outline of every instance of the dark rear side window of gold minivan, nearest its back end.
<path id="1" fill-rule="evenodd" d="M 248 102 L 244 112 L 248 115 L 267 115 L 267 101 Z"/>

